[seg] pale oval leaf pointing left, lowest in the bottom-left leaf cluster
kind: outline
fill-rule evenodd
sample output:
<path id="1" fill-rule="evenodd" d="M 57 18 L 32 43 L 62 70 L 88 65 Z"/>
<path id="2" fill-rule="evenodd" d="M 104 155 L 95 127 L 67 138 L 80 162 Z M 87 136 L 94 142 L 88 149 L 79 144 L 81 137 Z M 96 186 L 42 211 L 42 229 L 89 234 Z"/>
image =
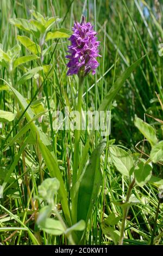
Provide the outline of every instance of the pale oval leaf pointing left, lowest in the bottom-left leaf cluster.
<path id="1" fill-rule="evenodd" d="M 38 227 L 51 235 L 61 235 L 64 233 L 65 229 L 62 227 L 60 221 L 52 218 L 46 218 L 44 222 L 38 224 Z"/>

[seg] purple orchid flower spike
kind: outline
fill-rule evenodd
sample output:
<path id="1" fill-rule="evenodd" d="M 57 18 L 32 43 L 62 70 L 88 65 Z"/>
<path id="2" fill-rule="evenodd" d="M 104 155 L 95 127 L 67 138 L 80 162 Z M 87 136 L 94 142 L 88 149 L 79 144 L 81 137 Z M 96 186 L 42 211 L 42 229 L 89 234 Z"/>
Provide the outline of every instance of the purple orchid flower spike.
<path id="1" fill-rule="evenodd" d="M 96 38 L 96 32 L 90 22 L 85 22 L 84 16 L 81 23 L 74 23 L 72 28 L 73 34 L 68 39 L 71 45 L 68 46 L 69 59 L 67 64 L 67 75 L 78 74 L 78 76 L 85 76 L 92 72 L 96 73 L 96 68 L 99 66 L 97 57 L 99 55 L 99 41 Z"/>

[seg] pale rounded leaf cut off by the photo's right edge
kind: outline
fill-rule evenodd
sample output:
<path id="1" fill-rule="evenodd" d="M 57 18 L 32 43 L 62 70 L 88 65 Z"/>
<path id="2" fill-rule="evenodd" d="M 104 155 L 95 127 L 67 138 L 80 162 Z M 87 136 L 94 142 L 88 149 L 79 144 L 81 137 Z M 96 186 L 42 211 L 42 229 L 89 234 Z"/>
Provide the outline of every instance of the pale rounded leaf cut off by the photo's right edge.
<path id="1" fill-rule="evenodd" d="M 153 163 L 163 161 L 163 140 L 159 141 L 158 144 L 152 147 L 150 158 Z"/>

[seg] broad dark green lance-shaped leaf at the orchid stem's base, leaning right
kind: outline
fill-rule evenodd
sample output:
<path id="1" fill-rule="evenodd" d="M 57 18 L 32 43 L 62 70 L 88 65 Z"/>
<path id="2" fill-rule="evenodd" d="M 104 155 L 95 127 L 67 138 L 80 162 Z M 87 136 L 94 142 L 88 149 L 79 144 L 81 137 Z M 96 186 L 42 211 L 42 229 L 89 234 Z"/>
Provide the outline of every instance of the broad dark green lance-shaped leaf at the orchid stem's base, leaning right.
<path id="1" fill-rule="evenodd" d="M 73 201 L 73 207 L 76 209 L 77 222 L 83 219 L 87 225 L 91 211 L 95 201 L 97 200 L 98 190 L 102 181 L 102 174 L 100 170 L 100 156 L 106 145 L 102 141 L 96 149 L 92 152 L 89 164 L 79 183 L 79 190 L 76 193 L 76 200 Z M 77 207 L 76 207 L 77 206 Z M 73 216 L 73 222 L 76 223 L 76 216 Z M 78 242 L 82 237 L 82 233 L 78 234 Z"/>

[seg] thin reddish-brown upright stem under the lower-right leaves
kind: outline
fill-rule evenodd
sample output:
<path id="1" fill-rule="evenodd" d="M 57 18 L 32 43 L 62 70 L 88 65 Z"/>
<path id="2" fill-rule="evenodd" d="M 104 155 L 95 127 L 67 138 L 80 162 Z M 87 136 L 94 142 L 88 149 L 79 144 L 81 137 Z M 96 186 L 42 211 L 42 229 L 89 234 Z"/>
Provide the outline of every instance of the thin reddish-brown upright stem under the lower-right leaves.
<path id="1" fill-rule="evenodd" d="M 135 184 L 135 178 L 134 180 L 130 183 L 130 186 L 128 188 L 128 192 L 127 192 L 127 197 L 126 197 L 126 201 L 125 203 L 128 203 L 129 199 L 130 199 L 130 195 L 132 192 L 132 189 L 134 187 Z M 122 217 L 122 226 L 121 226 L 121 234 L 120 234 L 120 241 L 118 245 L 123 245 L 123 239 L 124 239 L 124 229 L 125 229 L 125 224 L 126 224 L 126 218 L 127 218 L 127 213 L 129 210 L 129 206 L 126 206 L 126 208 L 123 210 L 123 217 Z"/>

